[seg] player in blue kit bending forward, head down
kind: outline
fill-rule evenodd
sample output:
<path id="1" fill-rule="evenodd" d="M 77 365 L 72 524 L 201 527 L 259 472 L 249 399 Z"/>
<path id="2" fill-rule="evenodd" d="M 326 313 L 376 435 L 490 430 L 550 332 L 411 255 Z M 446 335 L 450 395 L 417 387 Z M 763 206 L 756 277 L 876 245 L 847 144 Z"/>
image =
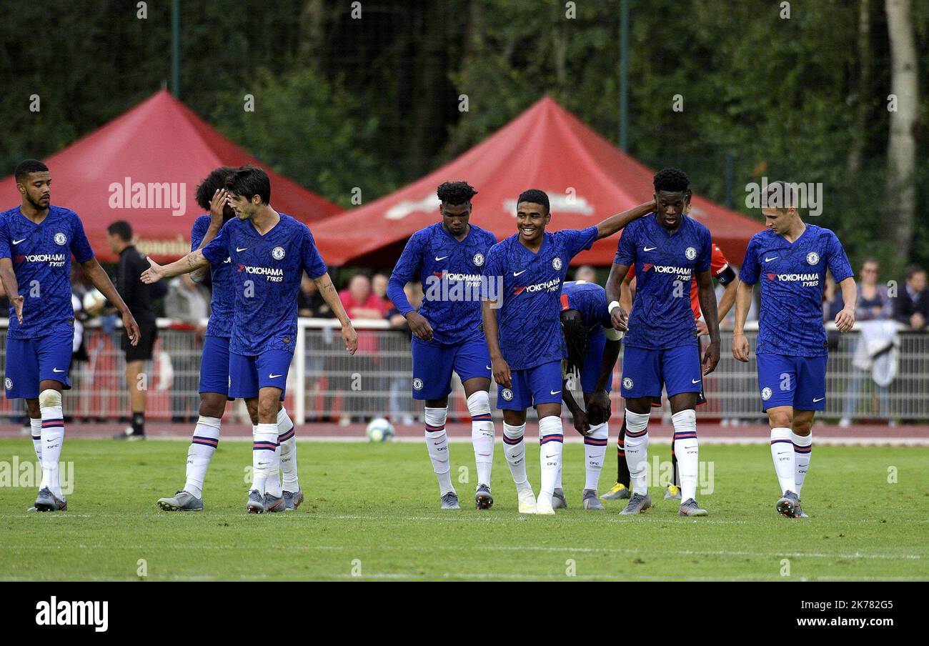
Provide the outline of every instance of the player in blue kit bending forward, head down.
<path id="1" fill-rule="evenodd" d="M 568 348 L 562 381 L 562 397 L 574 428 L 583 436 L 585 481 L 581 504 L 585 509 L 602 509 L 596 486 L 607 455 L 610 415 L 609 391 L 613 366 L 620 356 L 622 332 L 613 327 L 607 307 L 607 292 L 596 283 L 569 281 L 561 287 L 561 329 Z M 583 407 L 571 390 L 576 378 L 583 393 Z M 555 482 L 554 508 L 567 507 L 561 488 L 561 472 Z"/>

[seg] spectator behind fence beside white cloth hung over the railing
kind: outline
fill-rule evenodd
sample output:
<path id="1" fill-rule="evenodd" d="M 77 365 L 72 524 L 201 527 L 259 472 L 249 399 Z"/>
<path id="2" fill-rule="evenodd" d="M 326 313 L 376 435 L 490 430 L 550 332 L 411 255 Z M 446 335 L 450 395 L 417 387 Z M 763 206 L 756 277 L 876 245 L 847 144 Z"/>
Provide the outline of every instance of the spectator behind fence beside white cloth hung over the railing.
<path id="1" fill-rule="evenodd" d="M 893 302 L 887 294 L 887 286 L 878 283 L 878 270 L 880 269 L 877 260 L 868 258 L 861 264 L 859 271 L 859 281 L 857 283 L 858 301 L 855 310 L 855 320 L 858 322 L 865 321 L 889 321 L 893 315 Z M 836 293 L 832 300 L 831 310 L 842 310 L 844 302 L 842 293 Z M 857 336 L 858 344 L 864 343 L 864 337 L 860 334 Z M 856 350 L 856 354 L 860 351 Z M 865 352 L 867 354 L 867 352 Z M 866 378 L 870 378 L 870 369 L 863 369 L 855 362 L 849 368 L 851 373 L 848 384 L 845 389 L 845 402 L 842 409 L 842 419 L 839 420 L 839 426 L 851 426 L 855 417 L 855 408 L 858 396 L 861 393 L 861 384 Z M 880 402 L 881 412 L 888 414 L 890 411 L 889 390 L 886 386 L 871 380 L 874 387 L 874 394 Z"/>

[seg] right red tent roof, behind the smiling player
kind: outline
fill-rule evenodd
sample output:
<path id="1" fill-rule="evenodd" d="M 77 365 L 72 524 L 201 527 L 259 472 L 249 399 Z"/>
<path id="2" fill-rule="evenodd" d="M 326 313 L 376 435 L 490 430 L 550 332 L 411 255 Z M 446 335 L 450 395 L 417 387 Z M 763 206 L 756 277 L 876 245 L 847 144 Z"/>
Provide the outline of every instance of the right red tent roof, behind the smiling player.
<path id="1" fill-rule="evenodd" d="M 548 97 L 451 163 L 409 186 L 331 218 L 313 228 L 322 257 L 331 265 L 372 254 L 436 222 L 436 187 L 464 179 L 478 190 L 473 221 L 498 240 L 516 232 L 516 198 L 542 189 L 551 200 L 550 231 L 581 229 L 647 201 L 654 172 L 600 137 Z M 694 195 L 690 215 L 713 232 L 731 261 L 740 263 L 762 226 Z M 609 265 L 618 238 L 582 252 L 572 264 Z M 394 258 L 396 259 L 396 258 Z"/>

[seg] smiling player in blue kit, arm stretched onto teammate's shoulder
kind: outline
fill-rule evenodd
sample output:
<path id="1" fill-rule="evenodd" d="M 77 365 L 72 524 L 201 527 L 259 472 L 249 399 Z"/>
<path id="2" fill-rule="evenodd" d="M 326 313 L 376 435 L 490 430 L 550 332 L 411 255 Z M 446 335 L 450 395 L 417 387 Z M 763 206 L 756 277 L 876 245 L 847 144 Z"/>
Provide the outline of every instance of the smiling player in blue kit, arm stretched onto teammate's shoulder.
<path id="1" fill-rule="evenodd" d="M 494 244 L 484 268 L 482 318 L 504 411 L 504 454 L 517 485 L 519 513 L 554 514 L 561 468 L 561 362 L 567 356 L 559 297 L 572 257 L 652 210 L 641 204 L 594 227 L 548 233 L 548 195 L 532 189 L 517 199 L 517 233 Z M 536 499 L 526 479 L 526 409 L 539 415 L 542 484 Z"/>

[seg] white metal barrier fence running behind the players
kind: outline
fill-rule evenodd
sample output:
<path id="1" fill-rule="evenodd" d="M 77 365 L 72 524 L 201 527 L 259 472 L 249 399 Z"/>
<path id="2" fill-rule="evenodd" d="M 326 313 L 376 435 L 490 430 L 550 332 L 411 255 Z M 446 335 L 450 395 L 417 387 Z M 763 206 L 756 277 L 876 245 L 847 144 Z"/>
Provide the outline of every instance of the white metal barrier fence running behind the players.
<path id="1" fill-rule="evenodd" d="M 0 320 L 0 363 L 6 368 L 6 320 Z M 286 404 L 294 421 L 362 420 L 388 415 L 395 421 L 418 418 L 421 402 L 411 397 L 412 358 L 409 336 L 386 322 L 356 322 L 360 349 L 349 356 L 338 323 L 300 319 L 294 362 L 287 381 Z M 756 329 L 756 328 L 754 328 Z M 754 347 L 754 329 L 747 330 Z M 72 363 L 72 390 L 64 396 L 66 415 L 77 419 L 115 419 L 129 414 L 124 378 L 122 331 L 104 332 L 97 323 L 85 328 L 87 362 Z M 929 420 L 929 334 L 901 332 L 895 380 L 886 389 L 852 365 L 857 333 L 831 332 L 827 374 L 827 407 L 820 417 L 842 416 L 904 421 Z M 704 380 L 708 403 L 701 417 L 760 420 L 761 400 L 755 363 L 739 363 L 729 351 L 731 332 L 722 333 L 718 367 Z M 154 419 L 183 419 L 197 415 L 201 333 L 159 320 L 153 361 L 147 366 L 147 413 Z M 613 378 L 613 409 L 621 410 L 618 395 L 622 357 Z M 449 417 L 466 419 L 467 406 L 459 383 L 453 385 Z M 496 388 L 491 388 L 495 403 Z M 22 415 L 21 402 L 0 402 L 0 415 Z M 494 408 L 494 414 L 499 412 Z"/>

